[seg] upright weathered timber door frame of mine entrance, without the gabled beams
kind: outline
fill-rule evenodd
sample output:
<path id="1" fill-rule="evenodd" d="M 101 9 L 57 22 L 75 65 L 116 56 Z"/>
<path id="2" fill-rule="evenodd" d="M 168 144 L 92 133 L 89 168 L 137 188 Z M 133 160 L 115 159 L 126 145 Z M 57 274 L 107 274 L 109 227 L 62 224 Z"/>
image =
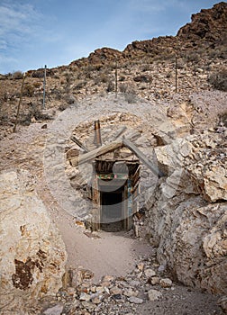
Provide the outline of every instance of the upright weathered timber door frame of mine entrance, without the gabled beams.
<path id="1" fill-rule="evenodd" d="M 125 161 L 95 158 L 93 167 L 92 228 L 108 231 L 132 229 L 132 216 L 139 211 L 141 178 L 139 159 Z M 108 211 L 112 212 L 112 215 L 113 211 L 111 211 L 111 203 L 105 205 L 106 200 L 118 202 L 113 203 L 116 215 L 114 218 L 108 217 Z"/>

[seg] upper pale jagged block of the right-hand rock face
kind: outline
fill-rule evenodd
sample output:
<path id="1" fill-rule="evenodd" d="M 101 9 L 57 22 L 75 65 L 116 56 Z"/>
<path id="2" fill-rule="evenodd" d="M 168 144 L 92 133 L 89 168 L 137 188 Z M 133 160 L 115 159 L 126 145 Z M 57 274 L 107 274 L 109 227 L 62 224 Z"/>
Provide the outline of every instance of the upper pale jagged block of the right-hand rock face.
<path id="1" fill-rule="evenodd" d="M 174 196 L 180 187 L 182 192 L 193 184 L 194 193 L 201 193 L 207 202 L 226 201 L 225 148 L 224 134 L 214 132 L 177 139 L 167 146 L 156 148 L 159 167 L 168 175 L 162 189 L 165 187 L 166 194 Z M 182 183 L 183 174 L 189 178 L 186 183 Z"/>

